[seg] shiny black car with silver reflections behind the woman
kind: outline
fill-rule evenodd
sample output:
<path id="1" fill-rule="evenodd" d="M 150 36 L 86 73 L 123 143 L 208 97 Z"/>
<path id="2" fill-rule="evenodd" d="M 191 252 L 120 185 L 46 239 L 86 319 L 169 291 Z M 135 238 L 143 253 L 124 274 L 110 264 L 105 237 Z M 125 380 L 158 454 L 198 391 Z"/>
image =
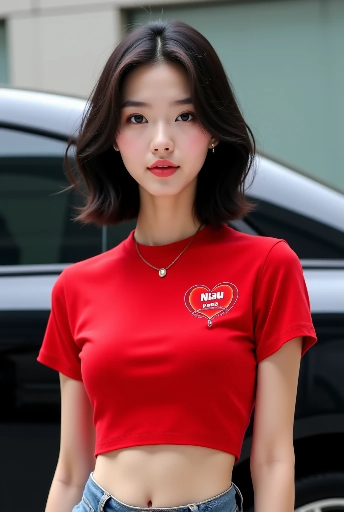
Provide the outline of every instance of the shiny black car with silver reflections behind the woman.
<path id="1" fill-rule="evenodd" d="M 0 428 L 7 439 L 3 467 L 15 472 L 15 478 L 11 471 L 2 476 L 13 511 L 19 489 L 30 497 L 28 512 L 44 509 L 57 463 L 58 373 L 36 360 L 52 287 L 64 268 L 111 249 L 135 228 L 135 221 L 81 226 L 73 221 L 79 195 L 61 193 L 69 185 L 63 172 L 67 141 L 77 134 L 86 106 L 83 98 L 0 88 Z M 256 208 L 231 225 L 284 239 L 296 252 L 319 339 L 299 377 L 296 510 L 344 510 L 344 195 L 263 153 L 248 185 Z M 233 474 L 247 510 L 253 507 L 253 419 Z"/>

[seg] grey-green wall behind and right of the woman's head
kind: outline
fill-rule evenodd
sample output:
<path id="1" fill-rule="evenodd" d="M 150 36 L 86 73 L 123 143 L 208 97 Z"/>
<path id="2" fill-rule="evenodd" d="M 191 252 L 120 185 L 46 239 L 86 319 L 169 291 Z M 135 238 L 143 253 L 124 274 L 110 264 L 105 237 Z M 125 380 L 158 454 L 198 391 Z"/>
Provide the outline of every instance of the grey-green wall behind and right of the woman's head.
<path id="1" fill-rule="evenodd" d="M 133 9 L 180 20 L 218 52 L 261 150 L 344 190 L 344 0 Z"/>

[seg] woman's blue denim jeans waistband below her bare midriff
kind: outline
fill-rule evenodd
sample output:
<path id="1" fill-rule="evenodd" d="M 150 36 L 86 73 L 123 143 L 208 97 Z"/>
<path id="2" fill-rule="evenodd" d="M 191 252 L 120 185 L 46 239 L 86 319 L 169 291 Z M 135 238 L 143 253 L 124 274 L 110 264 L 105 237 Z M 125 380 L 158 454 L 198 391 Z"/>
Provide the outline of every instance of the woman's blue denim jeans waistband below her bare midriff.
<path id="1" fill-rule="evenodd" d="M 93 472 L 87 481 L 80 503 L 72 512 L 243 512 L 243 496 L 234 483 L 224 493 L 201 501 L 179 507 L 133 507 L 119 501 L 103 489 L 93 478 Z"/>

